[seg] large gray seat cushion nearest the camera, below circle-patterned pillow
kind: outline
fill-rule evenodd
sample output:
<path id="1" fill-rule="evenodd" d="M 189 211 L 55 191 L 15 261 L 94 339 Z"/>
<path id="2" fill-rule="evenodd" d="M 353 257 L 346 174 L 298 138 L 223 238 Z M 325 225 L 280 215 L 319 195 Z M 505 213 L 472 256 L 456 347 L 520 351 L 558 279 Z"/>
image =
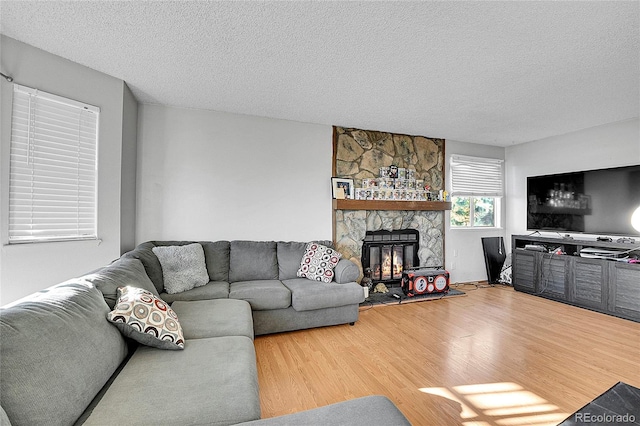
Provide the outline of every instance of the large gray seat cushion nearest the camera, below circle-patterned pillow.
<path id="1" fill-rule="evenodd" d="M 184 351 L 141 346 L 85 425 L 229 425 L 260 418 L 253 342 L 194 339 Z"/>

